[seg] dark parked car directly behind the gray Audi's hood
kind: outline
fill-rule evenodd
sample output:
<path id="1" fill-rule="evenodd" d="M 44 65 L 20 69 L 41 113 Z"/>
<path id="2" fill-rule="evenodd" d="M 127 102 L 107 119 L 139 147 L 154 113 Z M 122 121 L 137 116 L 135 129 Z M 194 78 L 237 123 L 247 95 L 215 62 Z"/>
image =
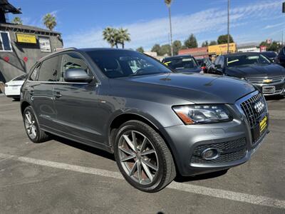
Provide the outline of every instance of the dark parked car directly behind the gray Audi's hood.
<path id="1" fill-rule="evenodd" d="M 162 59 L 162 63 L 169 66 L 177 72 L 195 72 L 202 71 L 201 66 L 197 63 L 196 59 L 191 55 L 178 55 L 171 56 Z"/>

